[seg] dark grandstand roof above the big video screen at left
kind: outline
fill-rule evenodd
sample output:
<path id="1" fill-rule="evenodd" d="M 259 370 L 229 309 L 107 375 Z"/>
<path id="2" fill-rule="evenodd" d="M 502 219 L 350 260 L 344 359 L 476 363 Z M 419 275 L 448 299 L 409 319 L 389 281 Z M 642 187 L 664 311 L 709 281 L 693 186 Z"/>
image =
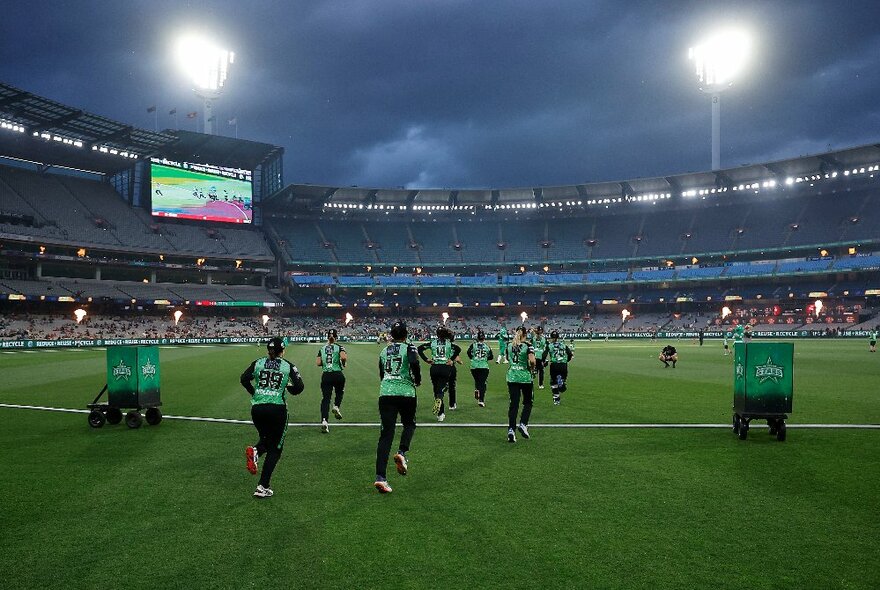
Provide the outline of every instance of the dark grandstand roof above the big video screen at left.
<path id="1" fill-rule="evenodd" d="M 253 169 L 284 152 L 271 144 L 219 135 L 140 129 L 2 82 L 0 118 L 25 129 L 24 133 L 0 133 L 0 156 L 105 174 L 128 168 L 136 159 L 157 155 Z M 117 154 L 101 152 L 102 147 Z"/>

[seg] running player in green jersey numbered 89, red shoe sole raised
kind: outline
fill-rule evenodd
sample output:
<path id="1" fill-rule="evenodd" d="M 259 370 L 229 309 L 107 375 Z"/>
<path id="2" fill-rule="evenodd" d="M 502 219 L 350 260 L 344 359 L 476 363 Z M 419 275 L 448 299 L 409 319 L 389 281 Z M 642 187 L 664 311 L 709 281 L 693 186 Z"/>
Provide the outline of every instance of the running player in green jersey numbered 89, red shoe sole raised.
<path id="1" fill-rule="evenodd" d="M 245 449 L 247 469 L 257 474 L 259 458 L 265 455 L 260 483 L 254 491 L 257 498 L 274 493 L 270 487 L 272 472 L 284 450 L 287 433 L 287 402 L 285 392 L 299 395 L 305 389 L 299 371 L 284 356 L 284 342 L 272 338 L 266 348 L 268 356 L 258 358 L 241 374 L 241 385 L 251 394 L 251 419 L 260 434 L 256 445 Z"/>

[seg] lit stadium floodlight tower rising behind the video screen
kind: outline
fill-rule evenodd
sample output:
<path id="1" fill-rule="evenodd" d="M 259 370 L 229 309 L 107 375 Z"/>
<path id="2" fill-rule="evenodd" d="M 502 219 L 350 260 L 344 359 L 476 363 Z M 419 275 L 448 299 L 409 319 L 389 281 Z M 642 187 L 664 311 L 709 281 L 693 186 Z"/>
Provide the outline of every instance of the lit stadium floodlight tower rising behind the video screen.
<path id="1" fill-rule="evenodd" d="M 175 53 L 181 68 L 193 83 L 196 96 L 204 101 L 205 133 L 211 135 L 214 133 L 213 103 L 223 93 L 235 54 L 198 35 L 181 37 Z"/>

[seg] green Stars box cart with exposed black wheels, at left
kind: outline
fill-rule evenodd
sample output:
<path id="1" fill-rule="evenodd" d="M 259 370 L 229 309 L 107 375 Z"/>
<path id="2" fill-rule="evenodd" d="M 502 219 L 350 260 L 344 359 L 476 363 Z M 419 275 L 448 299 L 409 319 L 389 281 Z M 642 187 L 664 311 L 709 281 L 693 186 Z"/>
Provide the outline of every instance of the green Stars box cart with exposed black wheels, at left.
<path id="1" fill-rule="evenodd" d="M 88 404 L 89 426 L 101 428 L 105 422 L 119 424 L 126 409 L 129 412 L 125 414 L 125 424 L 129 428 L 140 428 L 144 418 L 147 424 L 158 424 L 162 421 L 159 383 L 157 347 L 108 346 L 107 384 Z M 98 400 L 105 392 L 107 402 L 101 403 Z"/>

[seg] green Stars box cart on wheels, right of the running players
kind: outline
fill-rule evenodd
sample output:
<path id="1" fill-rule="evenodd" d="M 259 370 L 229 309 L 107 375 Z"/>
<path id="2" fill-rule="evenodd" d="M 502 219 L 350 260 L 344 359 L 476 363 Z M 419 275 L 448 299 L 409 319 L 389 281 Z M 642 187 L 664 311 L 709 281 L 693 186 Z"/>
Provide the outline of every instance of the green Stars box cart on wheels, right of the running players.
<path id="1" fill-rule="evenodd" d="M 733 367 L 733 432 L 745 440 L 752 420 L 767 420 L 770 434 L 784 441 L 793 395 L 794 344 L 737 342 Z"/>

